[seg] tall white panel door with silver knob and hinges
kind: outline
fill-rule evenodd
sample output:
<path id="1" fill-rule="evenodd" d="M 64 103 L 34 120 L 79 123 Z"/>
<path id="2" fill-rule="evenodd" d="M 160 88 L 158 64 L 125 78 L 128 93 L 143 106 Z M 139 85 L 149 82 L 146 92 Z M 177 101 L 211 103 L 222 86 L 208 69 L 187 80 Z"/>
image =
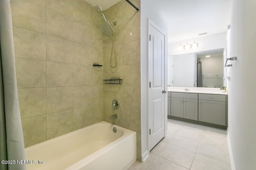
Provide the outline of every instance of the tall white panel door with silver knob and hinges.
<path id="1" fill-rule="evenodd" d="M 164 38 L 165 36 L 149 22 L 148 80 L 149 87 L 149 149 L 164 137 Z M 166 89 L 167 91 L 167 89 Z"/>

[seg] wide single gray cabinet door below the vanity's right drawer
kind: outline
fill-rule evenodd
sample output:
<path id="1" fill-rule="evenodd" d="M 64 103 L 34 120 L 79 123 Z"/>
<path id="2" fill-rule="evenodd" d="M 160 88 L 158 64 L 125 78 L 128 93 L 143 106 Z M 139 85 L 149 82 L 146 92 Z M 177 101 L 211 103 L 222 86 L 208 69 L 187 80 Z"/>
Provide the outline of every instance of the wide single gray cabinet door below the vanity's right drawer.
<path id="1" fill-rule="evenodd" d="M 198 120 L 226 125 L 226 102 L 198 100 Z"/>

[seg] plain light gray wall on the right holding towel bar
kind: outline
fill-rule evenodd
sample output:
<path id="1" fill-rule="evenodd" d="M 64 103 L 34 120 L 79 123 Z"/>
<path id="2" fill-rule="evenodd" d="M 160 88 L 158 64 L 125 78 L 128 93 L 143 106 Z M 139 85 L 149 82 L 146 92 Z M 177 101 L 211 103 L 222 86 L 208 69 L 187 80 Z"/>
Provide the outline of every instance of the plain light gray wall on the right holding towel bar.
<path id="1" fill-rule="evenodd" d="M 228 131 L 236 170 L 256 167 L 256 1 L 232 0 Z"/>

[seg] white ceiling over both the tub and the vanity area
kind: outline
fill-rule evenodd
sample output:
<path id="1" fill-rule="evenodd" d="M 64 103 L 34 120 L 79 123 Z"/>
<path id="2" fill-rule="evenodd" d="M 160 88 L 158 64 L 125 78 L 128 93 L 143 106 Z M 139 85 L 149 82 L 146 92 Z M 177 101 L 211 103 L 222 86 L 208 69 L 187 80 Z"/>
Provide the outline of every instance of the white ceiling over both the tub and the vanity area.
<path id="1" fill-rule="evenodd" d="M 120 0 L 86 1 L 106 10 Z M 148 0 L 148 3 L 168 20 L 168 43 L 193 39 L 205 32 L 221 33 L 229 24 L 231 0 Z"/>

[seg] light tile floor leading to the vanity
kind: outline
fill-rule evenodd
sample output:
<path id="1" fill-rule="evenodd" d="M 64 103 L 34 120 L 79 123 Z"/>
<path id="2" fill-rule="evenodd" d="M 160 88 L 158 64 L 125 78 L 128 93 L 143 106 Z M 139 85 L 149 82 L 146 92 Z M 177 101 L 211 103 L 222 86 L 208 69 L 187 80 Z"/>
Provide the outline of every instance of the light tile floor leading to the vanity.
<path id="1" fill-rule="evenodd" d="M 168 119 L 168 132 L 128 170 L 231 170 L 226 130 Z"/>

